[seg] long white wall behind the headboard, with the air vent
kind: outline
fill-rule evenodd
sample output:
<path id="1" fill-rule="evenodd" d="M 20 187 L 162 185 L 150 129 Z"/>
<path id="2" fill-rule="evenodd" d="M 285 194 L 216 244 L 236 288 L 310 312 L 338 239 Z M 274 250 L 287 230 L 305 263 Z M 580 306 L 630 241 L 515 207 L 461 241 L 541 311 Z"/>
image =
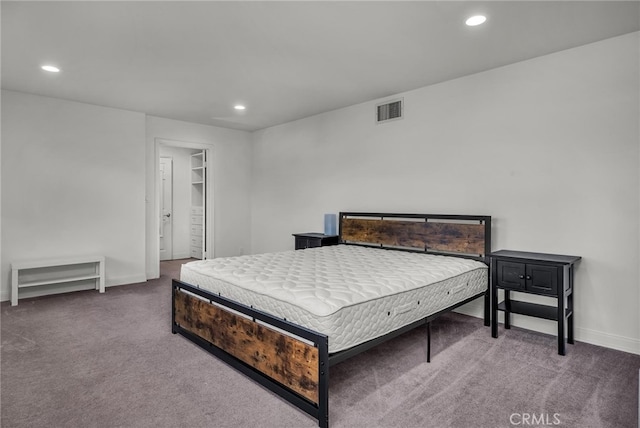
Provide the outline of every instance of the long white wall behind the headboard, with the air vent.
<path id="1" fill-rule="evenodd" d="M 328 212 L 488 214 L 495 250 L 583 257 L 577 340 L 640 353 L 638 45 L 633 33 L 406 92 L 406 117 L 383 125 L 370 102 L 254 133 L 253 251 L 292 249 Z"/>

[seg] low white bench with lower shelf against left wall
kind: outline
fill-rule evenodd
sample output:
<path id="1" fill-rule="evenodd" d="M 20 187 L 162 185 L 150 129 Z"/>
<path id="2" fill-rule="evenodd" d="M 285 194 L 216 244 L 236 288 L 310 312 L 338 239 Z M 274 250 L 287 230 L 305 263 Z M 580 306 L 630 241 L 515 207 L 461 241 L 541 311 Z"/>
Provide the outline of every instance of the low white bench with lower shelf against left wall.
<path id="1" fill-rule="evenodd" d="M 11 306 L 18 304 L 20 288 L 89 280 L 95 280 L 96 290 L 104 293 L 104 256 L 11 263 Z"/>

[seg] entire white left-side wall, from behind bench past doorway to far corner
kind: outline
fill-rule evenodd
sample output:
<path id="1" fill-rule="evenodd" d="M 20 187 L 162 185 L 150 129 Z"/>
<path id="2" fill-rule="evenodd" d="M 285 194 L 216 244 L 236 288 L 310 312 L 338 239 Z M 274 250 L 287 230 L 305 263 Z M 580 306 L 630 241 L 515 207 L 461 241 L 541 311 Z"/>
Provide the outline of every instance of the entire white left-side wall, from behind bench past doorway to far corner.
<path id="1" fill-rule="evenodd" d="M 215 256 L 251 251 L 249 133 L 5 90 L 2 124 L 0 300 L 22 259 L 104 254 L 107 286 L 158 277 L 156 139 L 212 148 Z"/>

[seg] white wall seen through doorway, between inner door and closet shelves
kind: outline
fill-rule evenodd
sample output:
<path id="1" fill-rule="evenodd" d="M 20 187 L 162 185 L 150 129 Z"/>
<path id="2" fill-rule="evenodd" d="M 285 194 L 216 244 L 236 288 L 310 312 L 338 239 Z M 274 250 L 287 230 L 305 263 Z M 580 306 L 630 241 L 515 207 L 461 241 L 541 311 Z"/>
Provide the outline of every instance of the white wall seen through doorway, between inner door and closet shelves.
<path id="1" fill-rule="evenodd" d="M 160 156 L 172 159 L 172 258 L 186 259 L 191 251 L 191 153 L 193 150 L 160 146 Z"/>

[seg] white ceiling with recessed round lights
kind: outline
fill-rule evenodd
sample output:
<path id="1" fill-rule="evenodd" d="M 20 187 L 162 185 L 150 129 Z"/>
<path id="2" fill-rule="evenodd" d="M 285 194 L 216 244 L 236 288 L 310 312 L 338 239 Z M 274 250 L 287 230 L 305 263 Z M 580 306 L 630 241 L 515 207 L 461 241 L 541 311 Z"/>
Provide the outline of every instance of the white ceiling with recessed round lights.
<path id="1" fill-rule="evenodd" d="M 639 11 L 638 1 L 2 1 L 2 88 L 255 130 L 638 31 Z M 486 24 L 465 26 L 473 13 Z"/>

